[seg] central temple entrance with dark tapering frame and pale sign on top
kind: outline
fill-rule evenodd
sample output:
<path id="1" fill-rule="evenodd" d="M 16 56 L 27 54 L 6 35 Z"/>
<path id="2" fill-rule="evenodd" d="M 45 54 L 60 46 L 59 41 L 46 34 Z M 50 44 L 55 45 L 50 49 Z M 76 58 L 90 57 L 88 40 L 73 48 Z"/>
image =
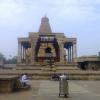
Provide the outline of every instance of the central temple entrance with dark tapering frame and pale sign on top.
<path id="1" fill-rule="evenodd" d="M 54 62 L 60 60 L 58 42 L 53 35 L 40 36 L 35 51 L 36 62 L 45 62 L 49 59 L 52 59 Z"/>

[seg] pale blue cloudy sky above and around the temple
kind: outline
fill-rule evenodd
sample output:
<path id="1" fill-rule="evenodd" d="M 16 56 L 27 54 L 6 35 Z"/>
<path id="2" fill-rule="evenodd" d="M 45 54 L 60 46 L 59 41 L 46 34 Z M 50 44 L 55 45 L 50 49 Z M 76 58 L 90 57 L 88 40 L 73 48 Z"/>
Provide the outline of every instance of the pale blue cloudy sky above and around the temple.
<path id="1" fill-rule="evenodd" d="M 17 55 L 18 37 L 38 32 L 47 16 L 53 32 L 77 38 L 78 56 L 100 51 L 100 0 L 0 0 L 0 52 Z"/>

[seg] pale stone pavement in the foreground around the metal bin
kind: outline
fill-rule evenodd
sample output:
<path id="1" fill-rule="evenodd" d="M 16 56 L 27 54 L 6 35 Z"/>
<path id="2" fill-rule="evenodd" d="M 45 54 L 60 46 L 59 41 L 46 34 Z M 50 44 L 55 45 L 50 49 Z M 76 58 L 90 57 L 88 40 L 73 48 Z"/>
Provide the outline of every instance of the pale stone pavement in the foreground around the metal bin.
<path id="1" fill-rule="evenodd" d="M 32 80 L 32 89 L 0 94 L 0 100 L 100 100 L 100 81 L 69 81 L 69 98 L 59 98 L 59 82 Z"/>

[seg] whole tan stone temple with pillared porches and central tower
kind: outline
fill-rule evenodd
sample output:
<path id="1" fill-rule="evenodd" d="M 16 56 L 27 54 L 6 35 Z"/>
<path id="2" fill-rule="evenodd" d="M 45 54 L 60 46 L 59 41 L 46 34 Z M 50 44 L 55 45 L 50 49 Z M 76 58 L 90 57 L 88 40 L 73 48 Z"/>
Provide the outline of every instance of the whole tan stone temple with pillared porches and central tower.
<path id="1" fill-rule="evenodd" d="M 52 32 L 49 19 L 44 16 L 38 32 L 18 38 L 18 64 L 73 63 L 77 57 L 76 38 Z"/>

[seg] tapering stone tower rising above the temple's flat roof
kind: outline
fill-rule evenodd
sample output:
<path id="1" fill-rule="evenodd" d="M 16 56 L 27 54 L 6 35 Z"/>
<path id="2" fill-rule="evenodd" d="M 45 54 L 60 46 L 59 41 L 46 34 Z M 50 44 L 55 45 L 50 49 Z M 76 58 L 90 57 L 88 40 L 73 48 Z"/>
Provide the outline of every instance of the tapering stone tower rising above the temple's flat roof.
<path id="1" fill-rule="evenodd" d="M 41 19 L 39 33 L 40 34 L 52 33 L 51 27 L 50 27 L 50 24 L 49 24 L 49 18 L 46 17 L 46 16 L 42 17 L 42 19 Z"/>

